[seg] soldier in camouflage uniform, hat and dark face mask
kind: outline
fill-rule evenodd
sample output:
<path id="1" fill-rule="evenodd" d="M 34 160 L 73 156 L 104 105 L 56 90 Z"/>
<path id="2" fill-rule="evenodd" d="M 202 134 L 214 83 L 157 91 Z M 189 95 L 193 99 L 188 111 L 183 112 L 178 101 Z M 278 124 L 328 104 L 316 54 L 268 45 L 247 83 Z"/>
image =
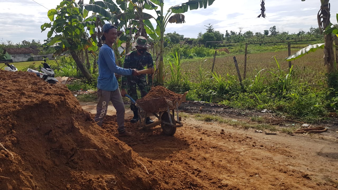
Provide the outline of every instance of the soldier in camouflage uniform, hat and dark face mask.
<path id="1" fill-rule="evenodd" d="M 149 52 L 147 52 L 147 48 L 150 47 L 147 43 L 147 39 L 144 37 L 138 37 L 136 43 L 133 44 L 136 47 L 136 50 L 129 52 L 126 54 L 124 58 L 123 68 L 125 69 L 137 69 L 143 70 L 146 66 L 147 68 L 153 68 L 153 60 L 152 56 Z M 128 89 L 128 94 L 135 101 L 138 99 L 136 86 L 139 87 L 141 91 L 141 97 L 144 97 L 148 94 L 149 87 L 152 86 L 152 75 L 148 75 L 148 84 L 146 79 L 146 74 L 141 74 L 139 76 L 122 76 L 122 85 L 121 85 L 121 95 L 124 96 L 126 94 L 125 89 Z M 134 112 L 134 117 L 130 120 L 131 123 L 135 123 L 139 120 L 138 117 L 138 108 L 135 104 L 130 104 L 130 110 Z M 150 117 L 146 118 L 146 123 L 152 123 L 153 121 Z"/>

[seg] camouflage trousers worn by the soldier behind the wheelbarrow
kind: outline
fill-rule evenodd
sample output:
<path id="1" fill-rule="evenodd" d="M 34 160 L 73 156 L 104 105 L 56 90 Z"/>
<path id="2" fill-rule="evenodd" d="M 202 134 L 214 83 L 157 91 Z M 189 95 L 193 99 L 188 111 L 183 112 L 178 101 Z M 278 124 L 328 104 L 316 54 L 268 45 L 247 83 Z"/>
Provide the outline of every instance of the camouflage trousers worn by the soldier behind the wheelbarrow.
<path id="1" fill-rule="evenodd" d="M 132 81 L 128 80 L 128 94 L 135 101 L 139 98 L 136 90 L 137 86 L 139 87 L 139 90 L 141 92 L 141 98 L 147 95 L 149 90 L 146 77 L 140 77 L 137 80 L 134 77 Z M 137 111 L 138 109 L 136 105 L 130 103 L 130 110 Z"/>

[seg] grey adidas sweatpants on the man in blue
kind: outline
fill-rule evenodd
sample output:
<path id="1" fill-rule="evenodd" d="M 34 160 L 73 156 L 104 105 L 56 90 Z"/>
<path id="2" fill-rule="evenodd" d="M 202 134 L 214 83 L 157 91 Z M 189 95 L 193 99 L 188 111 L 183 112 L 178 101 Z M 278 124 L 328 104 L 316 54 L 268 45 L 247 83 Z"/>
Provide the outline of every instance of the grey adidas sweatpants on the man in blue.
<path id="1" fill-rule="evenodd" d="M 122 96 L 119 89 L 115 91 L 105 91 L 101 89 L 97 89 L 97 96 L 99 101 L 96 105 L 96 115 L 95 115 L 95 122 L 99 126 L 102 125 L 103 118 L 107 115 L 107 108 L 109 101 L 112 101 L 112 104 L 116 110 L 117 116 L 117 124 L 118 124 L 118 132 L 123 133 L 125 131 L 124 128 L 124 103 L 122 101 Z"/>

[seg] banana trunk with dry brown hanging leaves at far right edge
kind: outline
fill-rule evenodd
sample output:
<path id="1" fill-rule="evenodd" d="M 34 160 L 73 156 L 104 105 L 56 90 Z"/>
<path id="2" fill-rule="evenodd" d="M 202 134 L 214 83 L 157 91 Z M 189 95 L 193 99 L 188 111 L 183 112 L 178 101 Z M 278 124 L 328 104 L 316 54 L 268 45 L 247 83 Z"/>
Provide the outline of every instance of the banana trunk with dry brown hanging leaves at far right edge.
<path id="1" fill-rule="evenodd" d="M 305 0 L 301 0 L 305 1 Z M 330 24 L 330 0 L 320 0 L 321 6 L 317 14 L 317 21 L 321 32 L 331 27 Z M 328 73 L 336 71 L 333 52 L 332 31 L 326 31 L 324 35 L 324 65 L 328 65 Z"/>

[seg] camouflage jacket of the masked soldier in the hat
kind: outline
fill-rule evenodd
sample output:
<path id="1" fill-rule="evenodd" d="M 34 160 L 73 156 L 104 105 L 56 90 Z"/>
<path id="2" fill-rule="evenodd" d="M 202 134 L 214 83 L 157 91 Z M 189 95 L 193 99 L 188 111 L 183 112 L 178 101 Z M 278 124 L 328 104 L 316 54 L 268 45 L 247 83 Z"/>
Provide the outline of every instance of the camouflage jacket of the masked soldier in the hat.
<path id="1" fill-rule="evenodd" d="M 124 58 L 124 63 L 123 63 L 123 68 L 125 69 L 137 69 L 137 70 L 143 70 L 147 68 L 154 68 L 153 60 L 151 54 L 146 51 L 144 55 L 139 55 L 137 53 L 137 50 L 130 51 L 128 54 L 126 54 Z M 126 89 L 128 82 L 134 82 L 139 80 L 141 77 L 146 77 L 146 74 L 141 74 L 139 76 L 132 76 L 132 75 L 127 75 L 127 76 L 122 76 L 122 84 L 121 88 Z M 152 85 L 152 75 L 148 75 L 148 86 Z"/>

